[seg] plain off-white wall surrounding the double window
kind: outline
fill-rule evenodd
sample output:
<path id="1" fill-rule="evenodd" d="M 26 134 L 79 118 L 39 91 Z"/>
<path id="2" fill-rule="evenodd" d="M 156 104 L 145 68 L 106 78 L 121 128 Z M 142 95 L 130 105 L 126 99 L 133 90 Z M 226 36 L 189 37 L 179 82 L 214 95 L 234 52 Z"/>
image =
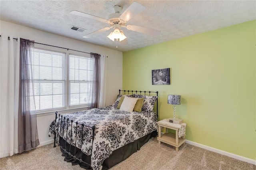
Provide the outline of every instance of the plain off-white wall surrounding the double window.
<path id="1" fill-rule="evenodd" d="M 111 105 L 116 99 L 118 89 L 122 89 L 122 56 L 123 53 L 106 47 L 93 45 L 90 43 L 74 40 L 59 36 L 56 34 L 36 30 L 33 28 L 13 24 L 0 20 L 0 35 L 5 34 L 7 36 L 13 36 L 14 38 L 20 37 L 24 39 L 34 40 L 38 43 L 44 43 L 49 45 L 55 45 L 59 47 L 65 47 L 69 49 L 75 49 L 78 51 L 94 52 L 101 55 L 107 55 L 107 100 L 106 105 Z M 60 51 L 60 48 L 49 47 L 46 45 L 35 44 L 35 47 L 52 49 Z M 52 138 L 48 137 L 49 125 L 54 119 L 55 114 L 39 115 L 37 117 L 38 125 L 38 138 L 40 145 L 48 144 L 52 142 Z"/>

